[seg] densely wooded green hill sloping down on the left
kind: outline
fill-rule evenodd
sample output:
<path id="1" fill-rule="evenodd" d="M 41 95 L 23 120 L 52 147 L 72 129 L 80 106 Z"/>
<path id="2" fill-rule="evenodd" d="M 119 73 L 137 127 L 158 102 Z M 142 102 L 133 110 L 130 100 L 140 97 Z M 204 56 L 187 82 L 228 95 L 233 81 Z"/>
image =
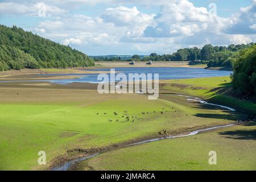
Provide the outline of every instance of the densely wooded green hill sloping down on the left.
<path id="1" fill-rule="evenodd" d="M 0 71 L 22 68 L 89 67 L 84 53 L 16 26 L 0 25 Z"/>

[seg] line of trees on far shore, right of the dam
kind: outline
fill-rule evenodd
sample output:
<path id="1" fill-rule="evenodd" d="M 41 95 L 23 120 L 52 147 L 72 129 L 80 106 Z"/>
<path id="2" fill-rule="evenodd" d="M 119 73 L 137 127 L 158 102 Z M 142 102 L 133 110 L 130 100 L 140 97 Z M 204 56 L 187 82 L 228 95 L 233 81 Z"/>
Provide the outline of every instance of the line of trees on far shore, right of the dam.
<path id="1" fill-rule="evenodd" d="M 176 52 L 164 55 L 151 53 L 149 56 L 134 55 L 134 61 L 189 61 L 189 64 L 208 64 L 208 67 L 232 67 L 232 60 L 242 49 L 253 46 L 249 44 L 231 44 L 230 46 L 205 45 L 203 48 L 183 48 Z"/>

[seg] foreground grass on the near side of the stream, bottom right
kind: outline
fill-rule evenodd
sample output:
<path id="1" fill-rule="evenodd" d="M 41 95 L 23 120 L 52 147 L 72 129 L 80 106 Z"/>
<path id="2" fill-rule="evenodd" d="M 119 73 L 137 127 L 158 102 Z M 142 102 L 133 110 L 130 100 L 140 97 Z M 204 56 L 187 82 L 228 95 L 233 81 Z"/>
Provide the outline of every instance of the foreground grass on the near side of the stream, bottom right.
<path id="1" fill-rule="evenodd" d="M 79 164 L 88 170 L 256 170 L 256 123 L 122 148 Z M 217 164 L 209 165 L 209 151 Z"/>

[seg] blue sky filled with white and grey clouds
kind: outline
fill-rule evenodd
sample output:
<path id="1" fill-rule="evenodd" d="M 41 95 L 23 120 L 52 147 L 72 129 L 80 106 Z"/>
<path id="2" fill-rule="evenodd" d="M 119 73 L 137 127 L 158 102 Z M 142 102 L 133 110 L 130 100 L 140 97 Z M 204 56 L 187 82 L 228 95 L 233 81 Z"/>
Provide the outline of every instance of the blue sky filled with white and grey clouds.
<path id="1" fill-rule="evenodd" d="M 0 0 L 0 24 L 87 55 L 256 42 L 256 0 Z"/>

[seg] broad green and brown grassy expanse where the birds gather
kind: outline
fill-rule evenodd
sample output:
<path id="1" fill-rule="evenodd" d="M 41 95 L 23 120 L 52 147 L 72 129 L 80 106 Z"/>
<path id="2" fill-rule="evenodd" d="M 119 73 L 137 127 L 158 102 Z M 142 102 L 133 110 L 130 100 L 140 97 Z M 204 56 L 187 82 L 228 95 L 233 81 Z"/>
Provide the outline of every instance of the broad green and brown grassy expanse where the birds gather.
<path id="1" fill-rule="evenodd" d="M 139 94 L 101 95 L 89 85 L 91 90 L 84 84 L 77 85 L 77 88 L 74 84 L 50 84 L 43 88 L 30 82 L 0 85 L 0 169 L 46 169 L 68 149 L 104 147 L 155 137 L 162 129 L 177 133 L 223 125 L 242 117 L 240 113 L 204 107 L 179 96 L 161 95 L 159 100 L 150 101 Z M 122 118 L 125 110 L 130 117 L 137 115 L 135 122 Z M 118 116 L 113 114 L 115 111 Z M 205 118 L 199 113 L 215 118 Z M 42 150 L 47 154 L 46 166 L 37 164 L 37 154 Z"/>

